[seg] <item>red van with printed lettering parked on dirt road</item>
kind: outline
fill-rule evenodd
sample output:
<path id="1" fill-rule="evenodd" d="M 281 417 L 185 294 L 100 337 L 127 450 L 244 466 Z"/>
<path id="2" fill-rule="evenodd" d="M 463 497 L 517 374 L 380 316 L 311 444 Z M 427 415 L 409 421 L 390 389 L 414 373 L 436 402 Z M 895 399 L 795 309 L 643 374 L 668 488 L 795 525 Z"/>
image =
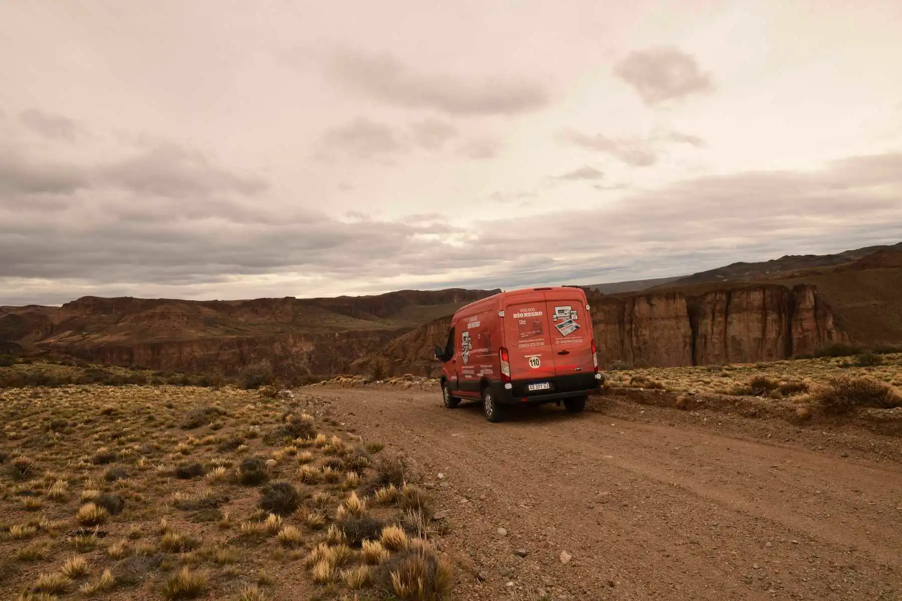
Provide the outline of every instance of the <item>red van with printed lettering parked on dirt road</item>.
<path id="1" fill-rule="evenodd" d="M 563 286 L 502 292 L 466 305 L 451 320 L 442 363 L 445 406 L 482 401 L 489 421 L 509 405 L 563 402 L 583 411 L 599 392 L 589 305 L 580 288 Z"/>

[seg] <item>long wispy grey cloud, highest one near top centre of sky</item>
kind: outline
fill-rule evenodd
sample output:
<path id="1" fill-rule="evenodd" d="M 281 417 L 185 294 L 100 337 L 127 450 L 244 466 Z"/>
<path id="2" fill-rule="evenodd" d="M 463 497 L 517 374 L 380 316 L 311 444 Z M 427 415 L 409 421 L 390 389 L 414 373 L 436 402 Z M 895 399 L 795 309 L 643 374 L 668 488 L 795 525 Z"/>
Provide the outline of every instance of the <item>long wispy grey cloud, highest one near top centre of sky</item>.
<path id="1" fill-rule="evenodd" d="M 356 92 L 395 106 L 431 108 L 449 115 L 513 115 L 538 110 L 551 101 L 548 90 L 529 79 L 418 72 L 388 55 L 336 52 L 327 67 L 336 80 Z"/>

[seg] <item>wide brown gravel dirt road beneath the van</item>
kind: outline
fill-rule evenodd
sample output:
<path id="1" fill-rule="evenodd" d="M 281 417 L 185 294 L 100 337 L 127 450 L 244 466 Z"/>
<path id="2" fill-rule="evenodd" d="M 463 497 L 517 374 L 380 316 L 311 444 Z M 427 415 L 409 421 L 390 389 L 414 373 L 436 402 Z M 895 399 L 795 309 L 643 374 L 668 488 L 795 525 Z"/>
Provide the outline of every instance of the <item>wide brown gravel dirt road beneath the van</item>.
<path id="1" fill-rule="evenodd" d="M 435 485 L 456 598 L 902 599 L 902 464 L 883 456 L 670 426 L 672 410 L 491 424 L 437 391 L 316 394 Z"/>

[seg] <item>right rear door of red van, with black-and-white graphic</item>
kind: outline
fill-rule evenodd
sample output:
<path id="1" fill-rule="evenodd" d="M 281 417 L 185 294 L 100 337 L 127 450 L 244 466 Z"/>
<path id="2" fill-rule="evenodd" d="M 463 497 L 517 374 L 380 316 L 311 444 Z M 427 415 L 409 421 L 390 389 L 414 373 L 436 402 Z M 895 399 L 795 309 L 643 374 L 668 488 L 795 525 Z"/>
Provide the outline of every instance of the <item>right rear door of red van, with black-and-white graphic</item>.
<path id="1" fill-rule="evenodd" d="M 544 312 L 555 374 L 592 374 L 592 324 L 584 297 L 570 291 L 545 292 Z"/>

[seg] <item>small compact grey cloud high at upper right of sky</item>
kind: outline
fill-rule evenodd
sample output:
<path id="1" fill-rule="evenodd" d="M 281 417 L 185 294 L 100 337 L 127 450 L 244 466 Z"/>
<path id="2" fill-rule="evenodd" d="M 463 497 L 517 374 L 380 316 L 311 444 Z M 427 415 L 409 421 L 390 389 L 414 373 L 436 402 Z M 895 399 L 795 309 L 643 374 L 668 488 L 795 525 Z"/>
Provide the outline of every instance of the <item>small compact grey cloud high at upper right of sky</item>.
<path id="1" fill-rule="evenodd" d="M 711 75 L 695 58 L 670 46 L 630 52 L 614 72 L 634 88 L 645 104 L 658 106 L 693 94 L 711 91 Z"/>

